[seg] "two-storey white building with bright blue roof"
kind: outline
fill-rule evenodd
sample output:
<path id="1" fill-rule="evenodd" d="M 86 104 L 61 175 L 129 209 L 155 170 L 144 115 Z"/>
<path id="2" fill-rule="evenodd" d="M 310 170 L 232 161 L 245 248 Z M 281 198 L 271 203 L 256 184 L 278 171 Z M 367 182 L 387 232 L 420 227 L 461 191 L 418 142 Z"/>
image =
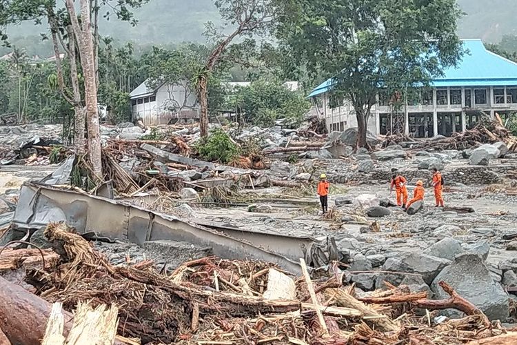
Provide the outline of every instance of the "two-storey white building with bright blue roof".
<path id="1" fill-rule="evenodd" d="M 443 77 L 430 83 L 432 88 L 407 92 L 411 96 L 395 109 L 390 97 L 378 95 L 372 108 L 368 130 L 387 135 L 404 133 L 415 138 L 450 136 L 473 128 L 483 113 L 494 117 L 517 111 L 517 63 L 485 48 L 480 39 L 466 39 L 467 53 L 458 66 L 448 68 Z M 309 97 L 320 99 L 327 129 L 356 127 L 354 108 L 347 101 L 332 99 L 332 79 L 316 87 Z M 332 104 L 333 103 L 333 104 Z M 331 106 L 332 105 L 332 106 Z"/>

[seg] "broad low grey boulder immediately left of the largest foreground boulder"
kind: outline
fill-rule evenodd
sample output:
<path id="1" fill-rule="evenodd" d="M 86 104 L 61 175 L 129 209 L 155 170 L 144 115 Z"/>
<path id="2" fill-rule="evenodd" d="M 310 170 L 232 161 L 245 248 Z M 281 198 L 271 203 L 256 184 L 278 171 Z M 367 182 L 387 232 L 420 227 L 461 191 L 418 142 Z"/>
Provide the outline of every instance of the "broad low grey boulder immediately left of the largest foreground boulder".
<path id="1" fill-rule="evenodd" d="M 416 273 L 422 277 L 425 284 L 431 284 L 436 275 L 448 264 L 450 264 L 450 261 L 447 259 L 441 259 L 440 257 L 433 257 L 422 253 L 407 253 L 399 257 L 390 257 L 386 260 L 381 269 L 385 273 L 379 275 L 377 288 L 382 286 L 383 280 L 394 285 L 399 285 L 405 277 L 405 275 L 386 272 Z"/>

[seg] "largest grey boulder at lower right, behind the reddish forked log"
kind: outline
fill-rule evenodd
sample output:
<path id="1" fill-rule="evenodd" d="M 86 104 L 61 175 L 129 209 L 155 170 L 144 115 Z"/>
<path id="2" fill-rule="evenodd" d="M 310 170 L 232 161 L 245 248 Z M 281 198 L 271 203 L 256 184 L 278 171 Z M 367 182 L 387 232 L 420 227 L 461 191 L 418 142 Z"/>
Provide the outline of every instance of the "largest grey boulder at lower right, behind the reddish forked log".
<path id="1" fill-rule="evenodd" d="M 509 296 L 497 282 L 479 255 L 461 254 L 444 268 L 432 282 L 431 289 L 436 299 L 449 295 L 438 285 L 447 282 L 456 293 L 480 308 L 489 319 L 504 321 L 509 315 Z M 449 316 L 458 316 L 457 311 L 447 311 Z"/>

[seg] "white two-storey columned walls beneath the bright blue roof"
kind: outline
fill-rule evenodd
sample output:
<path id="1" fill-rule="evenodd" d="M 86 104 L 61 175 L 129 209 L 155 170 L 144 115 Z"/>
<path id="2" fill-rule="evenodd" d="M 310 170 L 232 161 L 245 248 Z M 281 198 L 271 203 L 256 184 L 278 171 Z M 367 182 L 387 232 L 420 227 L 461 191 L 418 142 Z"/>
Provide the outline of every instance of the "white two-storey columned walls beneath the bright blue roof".
<path id="1" fill-rule="evenodd" d="M 357 127 L 354 108 L 348 102 L 343 102 L 340 107 L 330 108 L 328 94 L 324 93 L 320 97 L 327 130 Z M 428 130 L 425 130 L 425 136 L 428 133 L 436 136 L 445 132 L 461 132 L 472 127 L 472 122 L 478 121 L 478 117 L 474 116 L 478 110 L 486 112 L 491 117 L 494 117 L 495 112 L 517 111 L 517 86 L 434 88 L 432 100 L 424 99 L 425 97 L 420 97 L 419 100 L 408 101 L 403 106 L 401 112 L 405 116 L 405 135 L 416 136 L 419 128 L 421 135 L 423 125 L 417 124 L 421 119 L 431 121 Z M 385 119 L 391 112 L 392 109 L 387 103 L 377 103 L 372 108 L 368 130 L 376 135 L 384 134 L 385 128 L 381 126 L 385 125 L 381 117 Z"/>

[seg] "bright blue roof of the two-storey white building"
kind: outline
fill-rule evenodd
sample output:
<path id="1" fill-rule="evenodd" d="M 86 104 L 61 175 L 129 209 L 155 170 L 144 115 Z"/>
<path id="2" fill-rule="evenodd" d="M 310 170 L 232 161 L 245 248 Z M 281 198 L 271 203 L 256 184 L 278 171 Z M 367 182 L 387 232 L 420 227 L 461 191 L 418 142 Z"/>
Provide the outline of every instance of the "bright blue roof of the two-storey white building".
<path id="1" fill-rule="evenodd" d="M 485 48 L 480 39 L 465 39 L 467 51 L 457 67 L 447 68 L 443 77 L 431 81 L 436 88 L 461 86 L 517 86 L 517 63 Z M 332 88 L 332 78 L 312 90 L 314 97 Z"/>

